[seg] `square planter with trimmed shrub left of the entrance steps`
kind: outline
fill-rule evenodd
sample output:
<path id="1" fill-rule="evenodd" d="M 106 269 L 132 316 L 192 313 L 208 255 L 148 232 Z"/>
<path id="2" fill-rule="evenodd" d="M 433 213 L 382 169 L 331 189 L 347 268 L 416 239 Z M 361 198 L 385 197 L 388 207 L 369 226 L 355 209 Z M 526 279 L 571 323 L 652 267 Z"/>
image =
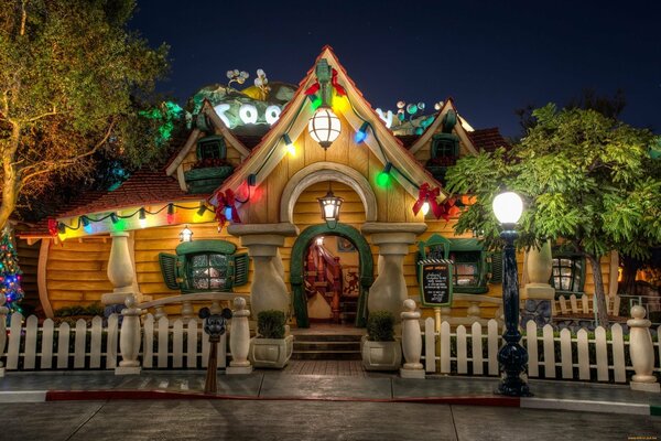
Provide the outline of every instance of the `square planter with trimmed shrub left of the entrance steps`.
<path id="1" fill-rule="evenodd" d="M 250 340 L 250 363 L 254 367 L 282 369 L 292 356 L 294 336 L 285 336 L 284 312 L 267 310 L 257 314 L 257 335 Z"/>

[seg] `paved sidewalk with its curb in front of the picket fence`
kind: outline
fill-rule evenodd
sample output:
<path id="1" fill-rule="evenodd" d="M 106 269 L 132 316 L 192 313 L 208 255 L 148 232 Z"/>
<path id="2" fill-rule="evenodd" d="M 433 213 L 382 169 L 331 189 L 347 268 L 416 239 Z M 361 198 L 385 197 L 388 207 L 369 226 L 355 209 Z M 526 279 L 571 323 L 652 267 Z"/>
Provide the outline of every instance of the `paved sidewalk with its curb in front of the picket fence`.
<path id="1" fill-rule="evenodd" d="M 534 397 L 494 395 L 497 378 L 427 376 L 404 379 L 394 374 L 366 376 L 292 375 L 256 370 L 218 373 L 218 392 L 204 395 L 203 370 L 143 370 L 139 376 L 113 372 L 7 373 L 0 378 L 0 404 L 107 399 L 240 399 L 426 402 L 506 406 L 661 416 L 661 395 L 628 386 L 531 380 Z"/>

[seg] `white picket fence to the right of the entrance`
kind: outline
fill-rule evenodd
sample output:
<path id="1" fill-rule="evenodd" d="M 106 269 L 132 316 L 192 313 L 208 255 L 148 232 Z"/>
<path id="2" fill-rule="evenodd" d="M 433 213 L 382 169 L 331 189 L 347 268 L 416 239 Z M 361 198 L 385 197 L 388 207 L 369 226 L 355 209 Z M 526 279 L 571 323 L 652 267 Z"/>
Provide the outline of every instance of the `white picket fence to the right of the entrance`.
<path id="1" fill-rule="evenodd" d="M 447 322 L 441 323 L 441 330 L 436 332 L 434 324 L 434 319 L 426 319 L 425 355 L 423 356 L 426 373 L 492 376 L 499 374 L 497 356 L 502 337 L 495 320 L 488 322 L 486 333 L 477 322 L 470 327 L 470 334 L 463 325 L 457 326 L 456 332 L 453 333 Z M 594 338 L 588 338 L 586 330 L 579 330 L 576 335 L 572 335 L 565 329 L 560 332 L 560 337 L 554 337 L 551 325 L 542 329 L 541 336 L 538 336 L 538 331 L 537 324 L 529 321 L 525 336 L 521 340 L 521 344 L 528 349 L 528 376 L 531 378 L 560 377 L 586 381 L 627 383 L 627 370 L 633 370 L 631 365 L 625 363 L 625 351 L 629 342 L 625 341 L 619 324 L 611 326 L 610 340 L 607 338 L 606 330 L 602 326 L 595 330 Z M 556 347 L 560 347 L 557 359 Z M 654 351 L 661 358 L 659 342 L 654 343 Z M 453 353 L 456 355 L 452 355 Z M 661 370 L 658 361 L 654 370 Z"/>

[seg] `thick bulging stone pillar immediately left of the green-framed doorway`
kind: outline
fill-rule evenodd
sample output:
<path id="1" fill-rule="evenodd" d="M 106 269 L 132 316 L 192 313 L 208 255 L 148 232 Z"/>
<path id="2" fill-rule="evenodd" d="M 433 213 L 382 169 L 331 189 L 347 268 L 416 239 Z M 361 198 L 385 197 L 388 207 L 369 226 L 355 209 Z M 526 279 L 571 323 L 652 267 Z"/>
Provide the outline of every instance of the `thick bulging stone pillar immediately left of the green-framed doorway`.
<path id="1" fill-rule="evenodd" d="M 232 224 L 227 232 L 241 238 L 252 259 L 250 303 L 252 316 L 261 311 L 279 310 L 289 315 L 290 293 L 282 278 L 282 260 L 278 252 L 286 236 L 295 236 L 299 229 L 292 224 Z"/>

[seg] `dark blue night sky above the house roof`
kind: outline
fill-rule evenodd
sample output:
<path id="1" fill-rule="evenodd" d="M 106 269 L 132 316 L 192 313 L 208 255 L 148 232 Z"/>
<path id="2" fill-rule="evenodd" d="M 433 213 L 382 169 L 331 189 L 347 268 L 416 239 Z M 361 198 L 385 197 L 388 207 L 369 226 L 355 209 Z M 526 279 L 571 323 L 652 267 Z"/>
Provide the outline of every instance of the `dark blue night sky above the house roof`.
<path id="1" fill-rule="evenodd" d="M 502 6 L 507 4 L 507 6 Z M 661 1 L 138 0 L 131 25 L 171 45 L 159 89 L 184 103 L 226 72 L 297 84 L 325 44 L 372 107 L 453 97 L 475 128 L 520 133 L 514 109 L 625 92 L 620 116 L 661 132 Z"/>

